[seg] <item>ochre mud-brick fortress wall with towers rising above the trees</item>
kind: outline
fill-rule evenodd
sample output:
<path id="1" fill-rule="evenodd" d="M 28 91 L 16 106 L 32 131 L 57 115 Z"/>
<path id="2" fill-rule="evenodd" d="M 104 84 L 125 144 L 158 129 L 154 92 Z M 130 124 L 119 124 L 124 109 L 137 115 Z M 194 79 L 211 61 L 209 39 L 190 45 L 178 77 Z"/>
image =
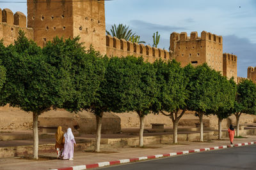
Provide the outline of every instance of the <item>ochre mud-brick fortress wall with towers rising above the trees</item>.
<path id="1" fill-rule="evenodd" d="M 142 56 L 148 62 L 156 59 L 176 59 L 181 66 L 195 66 L 207 62 L 223 75 L 237 79 L 237 57 L 223 54 L 223 39 L 211 32 L 173 32 L 170 35 L 170 51 L 148 45 L 132 43 L 125 39 L 106 36 L 105 5 L 103 0 L 51 1 L 28 0 L 28 24 L 26 16 L 4 9 L 0 11 L 0 38 L 9 45 L 17 38 L 19 29 L 29 39 L 44 46 L 54 37 L 74 38 L 80 36 L 84 46 L 92 45 L 102 54 L 112 56 Z M 28 25 L 28 26 L 27 26 Z M 250 77 L 254 78 L 253 73 Z M 248 74 L 249 78 L 249 74 Z M 255 80 L 255 78 L 254 78 Z"/>

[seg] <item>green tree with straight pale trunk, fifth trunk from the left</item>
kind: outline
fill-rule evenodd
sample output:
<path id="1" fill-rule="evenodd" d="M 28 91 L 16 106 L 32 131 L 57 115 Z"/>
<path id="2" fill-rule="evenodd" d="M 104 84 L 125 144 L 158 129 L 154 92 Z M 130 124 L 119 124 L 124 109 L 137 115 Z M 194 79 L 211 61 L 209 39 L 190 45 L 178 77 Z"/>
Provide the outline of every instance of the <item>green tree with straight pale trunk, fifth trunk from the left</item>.
<path id="1" fill-rule="evenodd" d="M 196 111 L 200 121 L 200 141 L 204 141 L 203 117 L 218 110 L 218 78 L 220 73 L 202 64 L 189 76 L 188 110 Z"/>

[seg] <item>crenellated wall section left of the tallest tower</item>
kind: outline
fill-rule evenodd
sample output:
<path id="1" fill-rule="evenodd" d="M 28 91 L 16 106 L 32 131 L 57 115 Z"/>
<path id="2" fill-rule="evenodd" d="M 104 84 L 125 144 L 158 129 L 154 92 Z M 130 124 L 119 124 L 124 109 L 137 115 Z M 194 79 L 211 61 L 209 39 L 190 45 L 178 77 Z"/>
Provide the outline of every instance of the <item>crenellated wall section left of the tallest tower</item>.
<path id="1" fill-rule="evenodd" d="M 19 30 L 26 33 L 29 39 L 34 39 L 33 29 L 27 28 L 27 18 L 24 13 L 17 11 L 14 15 L 8 8 L 0 8 L 0 39 L 4 45 L 10 45 L 18 37 Z"/>

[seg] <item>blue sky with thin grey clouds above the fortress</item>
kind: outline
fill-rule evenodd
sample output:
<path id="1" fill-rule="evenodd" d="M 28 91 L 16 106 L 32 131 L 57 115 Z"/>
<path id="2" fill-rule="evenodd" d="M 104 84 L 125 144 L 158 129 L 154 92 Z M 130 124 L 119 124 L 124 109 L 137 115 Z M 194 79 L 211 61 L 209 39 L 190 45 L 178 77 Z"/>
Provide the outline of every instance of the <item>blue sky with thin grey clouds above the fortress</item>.
<path id="1" fill-rule="evenodd" d="M 113 24 L 130 25 L 150 45 L 158 31 L 159 47 L 165 49 L 174 31 L 212 32 L 223 36 L 223 52 L 237 55 L 238 76 L 246 77 L 247 67 L 256 66 L 256 0 L 113 0 L 105 4 L 106 29 Z M 26 3 L 0 3 L 0 8 L 27 13 Z"/>

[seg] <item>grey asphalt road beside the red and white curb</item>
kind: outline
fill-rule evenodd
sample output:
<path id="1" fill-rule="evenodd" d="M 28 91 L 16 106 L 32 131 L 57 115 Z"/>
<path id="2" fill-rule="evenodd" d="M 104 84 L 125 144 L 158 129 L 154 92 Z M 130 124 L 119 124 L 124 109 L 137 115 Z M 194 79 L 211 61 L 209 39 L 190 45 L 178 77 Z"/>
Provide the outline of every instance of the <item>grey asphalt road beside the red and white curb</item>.
<path id="1" fill-rule="evenodd" d="M 256 169 L 256 145 L 227 148 L 177 157 L 102 168 L 104 170 Z"/>

